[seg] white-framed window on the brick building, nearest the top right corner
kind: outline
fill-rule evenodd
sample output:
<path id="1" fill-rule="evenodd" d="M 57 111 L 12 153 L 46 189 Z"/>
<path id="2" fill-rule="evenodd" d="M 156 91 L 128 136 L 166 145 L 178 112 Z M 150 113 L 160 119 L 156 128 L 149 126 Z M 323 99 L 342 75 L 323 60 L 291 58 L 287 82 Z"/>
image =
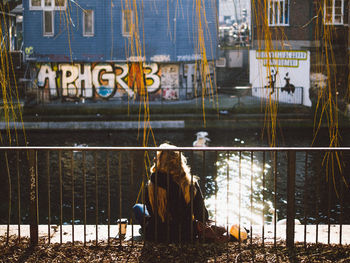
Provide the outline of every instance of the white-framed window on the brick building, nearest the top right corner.
<path id="1" fill-rule="evenodd" d="M 344 24 L 344 0 L 325 0 L 324 23 L 328 25 Z"/>

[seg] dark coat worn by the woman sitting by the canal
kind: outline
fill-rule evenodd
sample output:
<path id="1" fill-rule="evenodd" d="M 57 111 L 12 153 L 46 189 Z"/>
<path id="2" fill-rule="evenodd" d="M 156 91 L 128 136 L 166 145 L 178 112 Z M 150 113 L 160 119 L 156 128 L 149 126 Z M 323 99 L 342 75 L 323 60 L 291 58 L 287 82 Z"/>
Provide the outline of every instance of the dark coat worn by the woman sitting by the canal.
<path id="1" fill-rule="evenodd" d="M 150 218 L 145 226 L 145 238 L 153 241 L 157 239 L 159 242 L 191 241 L 192 225 L 192 237 L 195 240 L 197 238 L 196 221 L 206 222 L 208 220 L 208 211 L 204 205 L 201 189 L 196 182 L 196 195 L 193 197 L 193 207 L 191 208 L 191 201 L 186 203 L 181 188 L 172 180 L 171 176 L 169 179 L 167 176 L 167 174 L 158 173 L 156 182 L 156 174 L 154 173 L 151 175 L 151 182 L 167 190 L 167 212 L 170 216 L 162 222 L 158 213 L 155 215 L 149 201 L 148 187 L 146 187 L 145 200 Z"/>

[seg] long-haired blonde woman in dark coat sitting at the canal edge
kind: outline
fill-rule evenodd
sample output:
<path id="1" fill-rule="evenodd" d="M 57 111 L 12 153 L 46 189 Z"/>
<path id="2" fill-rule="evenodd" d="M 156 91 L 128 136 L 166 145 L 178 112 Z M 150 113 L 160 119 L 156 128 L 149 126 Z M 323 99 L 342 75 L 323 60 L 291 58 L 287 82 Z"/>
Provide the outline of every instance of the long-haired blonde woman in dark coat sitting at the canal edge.
<path id="1" fill-rule="evenodd" d="M 196 177 L 190 174 L 185 156 L 170 144 L 158 151 L 147 183 L 145 205 L 136 204 L 136 220 L 143 225 L 146 240 L 182 242 L 198 237 L 198 222 L 208 220 L 208 211 Z M 157 201 L 155 201 L 157 200 Z"/>

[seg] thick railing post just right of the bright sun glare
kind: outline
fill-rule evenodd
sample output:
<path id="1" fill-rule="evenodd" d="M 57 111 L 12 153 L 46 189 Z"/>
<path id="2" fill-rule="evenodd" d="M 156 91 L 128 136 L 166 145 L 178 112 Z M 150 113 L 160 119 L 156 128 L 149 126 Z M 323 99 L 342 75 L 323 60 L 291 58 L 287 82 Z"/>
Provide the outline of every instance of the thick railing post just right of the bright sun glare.
<path id="1" fill-rule="evenodd" d="M 288 151 L 288 178 L 287 178 L 287 247 L 294 248 L 294 217 L 295 217 L 295 163 L 296 152 Z"/>

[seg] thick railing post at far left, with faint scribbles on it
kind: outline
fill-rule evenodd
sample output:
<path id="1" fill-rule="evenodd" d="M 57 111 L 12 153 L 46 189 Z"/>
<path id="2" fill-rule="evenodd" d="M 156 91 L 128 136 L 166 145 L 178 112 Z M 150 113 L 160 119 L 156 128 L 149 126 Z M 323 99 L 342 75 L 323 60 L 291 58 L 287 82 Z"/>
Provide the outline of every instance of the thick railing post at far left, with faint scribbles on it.
<path id="1" fill-rule="evenodd" d="M 29 176 L 30 176 L 30 244 L 36 246 L 39 239 L 38 231 L 38 202 L 37 202 L 37 174 L 36 152 L 29 150 Z"/>

